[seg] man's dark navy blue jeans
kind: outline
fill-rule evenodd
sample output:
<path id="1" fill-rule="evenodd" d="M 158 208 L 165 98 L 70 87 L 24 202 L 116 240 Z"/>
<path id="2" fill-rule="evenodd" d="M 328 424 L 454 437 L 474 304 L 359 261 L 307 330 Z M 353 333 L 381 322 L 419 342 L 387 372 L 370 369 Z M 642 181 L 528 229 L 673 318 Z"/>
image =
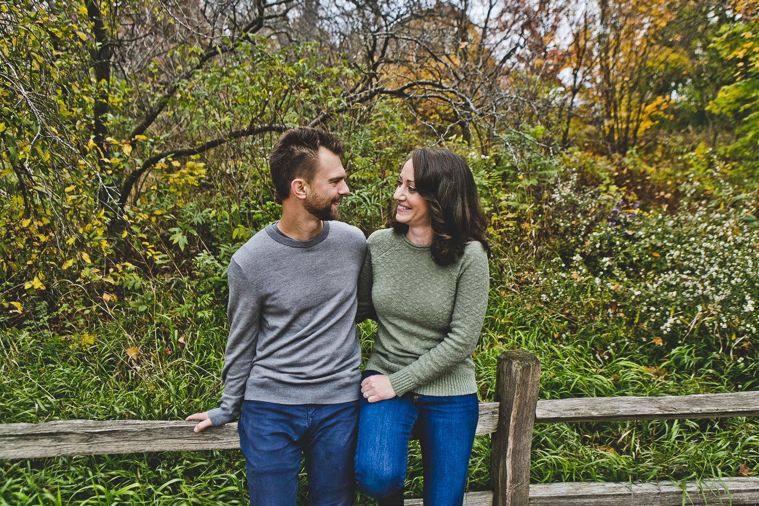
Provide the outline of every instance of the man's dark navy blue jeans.
<path id="1" fill-rule="evenodd" d="M 301 452 L 310 504 L 353 504 L 357 417 L 358 401 L 294 405 L 244 401 L 238 432 L 250 506 L 294 506 Z"/>

